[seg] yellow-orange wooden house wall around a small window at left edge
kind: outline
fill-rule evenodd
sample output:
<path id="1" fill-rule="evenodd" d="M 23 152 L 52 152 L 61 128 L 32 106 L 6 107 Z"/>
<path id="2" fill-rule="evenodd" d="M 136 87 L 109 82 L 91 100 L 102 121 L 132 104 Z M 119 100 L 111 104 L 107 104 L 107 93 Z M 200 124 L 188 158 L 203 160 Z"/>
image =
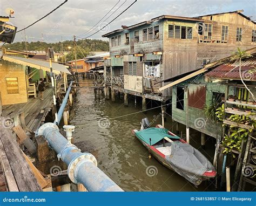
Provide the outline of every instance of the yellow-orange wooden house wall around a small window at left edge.
<path id="1" fill-rule="evenodd" d="M 8 77 L 18 78 L 18 94 L 7 93 L 5 78 Z M 25 66 L 9 63 L 8 61 L 2 61 L 2 66 L 0 66 L 0 90 L 2 94 L 3 105 L 28 102 Z"/>

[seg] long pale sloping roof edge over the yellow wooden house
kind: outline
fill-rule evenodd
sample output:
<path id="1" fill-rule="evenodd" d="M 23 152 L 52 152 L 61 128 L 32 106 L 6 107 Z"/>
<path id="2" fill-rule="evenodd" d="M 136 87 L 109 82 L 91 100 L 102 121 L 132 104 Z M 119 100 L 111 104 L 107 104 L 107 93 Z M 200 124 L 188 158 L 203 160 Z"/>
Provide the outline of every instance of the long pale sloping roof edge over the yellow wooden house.
<path id="1" fill-rule="evenodd" d="M 38 70 L 44 70 L 46 72 L 51 71 L 49 61 L 43 61 L 43 60 L 32 59 L 32 58 L 7 56 L 7 55 L 4 55 L 2 59 L 6 61 L 10 61 L 12 63 L 37 68 Z M 71 74 L 64 65 L 61 65 L 58 63 L 52 63 L 52 71 L 55 74 L 59 74 L 60 72 Z"/>

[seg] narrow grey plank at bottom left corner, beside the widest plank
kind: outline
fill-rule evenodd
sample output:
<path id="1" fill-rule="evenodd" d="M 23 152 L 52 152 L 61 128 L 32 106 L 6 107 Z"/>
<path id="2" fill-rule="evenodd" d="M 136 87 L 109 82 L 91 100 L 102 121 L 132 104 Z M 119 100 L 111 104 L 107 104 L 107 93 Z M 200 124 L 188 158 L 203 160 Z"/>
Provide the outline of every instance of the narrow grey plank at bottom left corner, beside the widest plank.
<path id="1" fill-rule="evenodd" d="M 16 180 L 14 178 L 14 174 L 12 174 L 9 161 L 4 152 L 2 141 L 0 141 L 0 154 L 1 154 L 1 164 L 3 169 L 3 174 L 5 177 L 5 182 L 7 183 L 6 187 L 8 187 L 9 191 L 19 191 Z"/>

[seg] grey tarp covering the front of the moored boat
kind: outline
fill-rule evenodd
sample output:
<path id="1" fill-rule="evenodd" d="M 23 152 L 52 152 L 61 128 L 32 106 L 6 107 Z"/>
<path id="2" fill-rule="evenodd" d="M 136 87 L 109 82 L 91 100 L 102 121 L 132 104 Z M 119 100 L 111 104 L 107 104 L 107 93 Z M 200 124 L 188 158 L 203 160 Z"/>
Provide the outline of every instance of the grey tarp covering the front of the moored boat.
<path id="1" fill-rule="evenodd" d="M 187 143 L 172 142 L 171 155 L 165 157 L 176 173 L 196 186 L 203 181 L 206 171 L 215 170 L 203 154 Z"/>

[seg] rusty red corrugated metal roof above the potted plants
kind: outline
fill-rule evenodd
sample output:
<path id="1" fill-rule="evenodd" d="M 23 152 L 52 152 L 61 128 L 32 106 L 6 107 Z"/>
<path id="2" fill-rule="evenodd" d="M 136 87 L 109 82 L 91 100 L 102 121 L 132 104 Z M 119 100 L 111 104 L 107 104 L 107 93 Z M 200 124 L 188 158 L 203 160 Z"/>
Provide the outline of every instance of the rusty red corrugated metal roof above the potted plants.
<path id="1" fill-rule="evenodd" d="M 256 53 L 253 57 L 244 59 L 241 62 L 241 75 L 243 80 L 256 81 L 256 73 L 249 72 L 254 67 L 256 67 Z M 214 68 L 214 70 L 206 73 L 206 76 L 218 79 L 240 79 L 239 60 L 221 64 Z"/>

